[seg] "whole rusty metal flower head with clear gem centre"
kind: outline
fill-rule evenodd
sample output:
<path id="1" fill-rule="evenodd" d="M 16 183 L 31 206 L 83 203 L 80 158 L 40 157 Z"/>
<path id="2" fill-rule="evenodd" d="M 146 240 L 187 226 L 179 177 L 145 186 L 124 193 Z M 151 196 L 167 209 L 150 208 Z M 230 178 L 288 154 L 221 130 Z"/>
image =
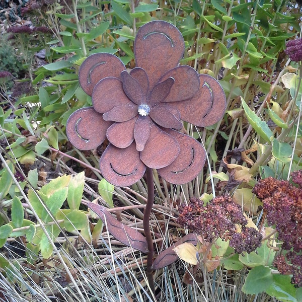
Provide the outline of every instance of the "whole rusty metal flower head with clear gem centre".
<path id="1" fill-rule="evenodd" d="M 202 170 L 203 146 L 179 130 L 182 121 L 198 127 L 219 121 L 225 95 L 214 78 L 179 65 L 184 50 L 175 26 L 152 21 L 137 32 L 136 67 L 130 72 L 109 53 L 93 54 L 82 63 L 79 81 L 93 107 L 72 113 L 66 133 L 83 150 L 109 140 L 100 170 L 113 185 L 134 184 L 146 167 L 158 169 L 173 184 L 187 183 Z"/>

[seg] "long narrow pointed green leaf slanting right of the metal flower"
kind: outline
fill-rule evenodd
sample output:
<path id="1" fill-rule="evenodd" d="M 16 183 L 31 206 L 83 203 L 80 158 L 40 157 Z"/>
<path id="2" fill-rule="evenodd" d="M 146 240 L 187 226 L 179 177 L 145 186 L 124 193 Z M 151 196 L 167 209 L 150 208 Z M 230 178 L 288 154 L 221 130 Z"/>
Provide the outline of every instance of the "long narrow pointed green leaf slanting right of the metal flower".
<path id="1" fill-rule="evenodd" d="M 268 127 L 267 123 L 262 121 L 260 117 L 258 117 L 256 113 L 249 108 L 249 106 L 246 104 L 246 102 L 242 97 L 241 97 L 241 103 L 246 113 L 247 119 L 251 124 L 251 126 L 253 127 L 253 129 L 267 142 L 271 142 L 270 138 L 273 135 L 273 133 L 271 129 Z"/>

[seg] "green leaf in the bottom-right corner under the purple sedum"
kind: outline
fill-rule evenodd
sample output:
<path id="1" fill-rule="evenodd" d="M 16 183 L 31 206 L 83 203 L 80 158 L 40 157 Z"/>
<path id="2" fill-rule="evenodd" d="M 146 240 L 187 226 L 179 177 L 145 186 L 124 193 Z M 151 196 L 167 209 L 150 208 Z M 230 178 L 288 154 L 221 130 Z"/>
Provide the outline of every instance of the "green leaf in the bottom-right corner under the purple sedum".
<path id="1" fill-rule="evenodd" d="M 289 275 L 273 274 L 273 282 L 265 292 L 272 297 L 276 297 L 279 301 L 301 301 L 300 299 L 296 299 L 297 289 L 290 283 L 290 279 Z"/>

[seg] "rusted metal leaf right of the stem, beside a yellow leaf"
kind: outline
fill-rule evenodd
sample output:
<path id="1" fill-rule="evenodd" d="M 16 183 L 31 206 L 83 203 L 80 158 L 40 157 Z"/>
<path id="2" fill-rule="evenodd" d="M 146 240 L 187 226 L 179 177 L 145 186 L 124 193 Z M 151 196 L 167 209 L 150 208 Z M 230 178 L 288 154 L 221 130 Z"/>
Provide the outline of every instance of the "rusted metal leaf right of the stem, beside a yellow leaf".
<path id="1" fill-rule="evenodd" d="M 184 236 L 183 238 L 181 238 L 179 241 L 177 241 L 174 245 L 172 245 L 168 249 L 161 252 L 154 260 L 152 268 L 160 269 L 175 262 L 178 259 L 178 256 L 173 249 L 179 246 L 180 244 L 183 244 L 184 242 L 189 242 L 193 245 L 196 245 L 198 243 L 197 235 L 194 233 L 190 233 Z"/>

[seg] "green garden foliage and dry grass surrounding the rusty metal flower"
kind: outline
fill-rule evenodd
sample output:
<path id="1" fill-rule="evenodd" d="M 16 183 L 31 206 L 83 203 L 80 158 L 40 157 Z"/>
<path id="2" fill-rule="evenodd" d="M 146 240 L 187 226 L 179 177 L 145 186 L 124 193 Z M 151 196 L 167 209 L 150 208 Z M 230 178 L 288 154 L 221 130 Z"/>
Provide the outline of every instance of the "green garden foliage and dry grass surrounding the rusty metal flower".
<path id="1" fill-rule="evenodd" d="M 102 150 L 80 152 L 65 135 L 69 115 L 92 104 L 79 86 L 81 63 L 90 54 L 109 52 L 134 67 L 135 33 L 148 21 L 177 26 L 186 43 L 181 64 L 218 79 L 227 99 L 216 125 L 184 125 L 207 150 L 200 177 L 173 187 L 155 172 L 155 209 L 162 216 L 155 214 L 150 223 L 166 230 L 160 234 L 163 246 L 182 236 L 173 216 L 176 205 L 191 196 L 206 200 L 228 191 L 255 225 L 265 224 L 251 193 L 257 180 L 287 180 L 291 171 L 302 169 L 301 66 L 284 53 L 286 41 L 300 36 L 296 2 L 72 0 L 44 1 L 30 10 L 33 3 L 26 4 L 23 19 L 51 32 L 15 33 L 0 47 L 0 71 L 15 77 L 15 86 L 0 79 L 0 298 L 3 290 L 11 292 L 7 300 L 18 301 L 148 300 L 145 256 L 114 242 L 86 206 L 97 199 L 108 208 L 132 206 L 121 217 L 140 229 L 142 212 L 136 206 L 144 206 L 146 184 L 112 188 L 97 169 Z M 19 21 L 2 19 L 2 39 Z M 235 148 L 244 153 L 242 161 L 222 164 Z M 156 272 L 156 283 L 167 301 L 300 301 L 301 289 L 272 267 L 273 254 L 267 240 L 257 254 L 245 257 L 226 249 L 214 272 L 196 273 L 180 262 Z M 191 281 L 183 283 L 188 275 Z"/>

